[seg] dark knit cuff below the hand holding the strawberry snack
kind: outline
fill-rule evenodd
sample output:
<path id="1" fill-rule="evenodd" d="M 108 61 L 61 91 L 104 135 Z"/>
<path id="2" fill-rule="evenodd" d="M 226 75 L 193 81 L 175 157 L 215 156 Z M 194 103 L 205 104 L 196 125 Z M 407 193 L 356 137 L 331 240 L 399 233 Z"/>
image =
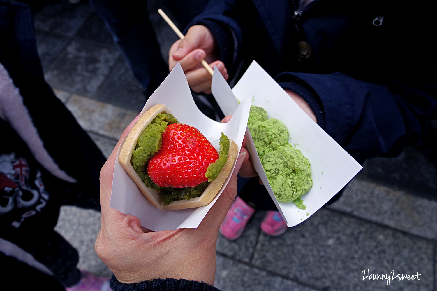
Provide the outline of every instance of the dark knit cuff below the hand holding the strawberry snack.
<path id="1" fill-rule="evenodd" d="M 185 279 L 153 279 L 152 281 L 125 284 L 118 282 L 114 275 L 109 280 L 109 286 L 113 291 L 220 291 L 206 283 Z"/>

